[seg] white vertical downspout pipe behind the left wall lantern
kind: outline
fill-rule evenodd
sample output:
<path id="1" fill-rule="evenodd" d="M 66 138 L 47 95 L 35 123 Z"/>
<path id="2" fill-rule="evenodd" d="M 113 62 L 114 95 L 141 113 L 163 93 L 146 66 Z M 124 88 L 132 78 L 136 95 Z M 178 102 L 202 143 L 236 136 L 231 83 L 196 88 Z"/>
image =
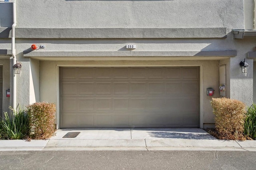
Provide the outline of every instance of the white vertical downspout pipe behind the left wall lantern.
<path id="1" fill-rule="evenodd" d="M 15 49 L 15 27 L 16 27 L 16 2 L 12 3 L 13 7 L 13 24 L 12 24 L 12 65 L 17 63 L 16 59 L 16 49 Z M 16 82 L 16 74 L 14 74 L 14 71 L 12 69 L 12 76 L 13 76 L 13 94 L 12 94 L 12 108 L 14 111 L 16 111 L 16 88 L 17 88 L 17 82 Z"/>

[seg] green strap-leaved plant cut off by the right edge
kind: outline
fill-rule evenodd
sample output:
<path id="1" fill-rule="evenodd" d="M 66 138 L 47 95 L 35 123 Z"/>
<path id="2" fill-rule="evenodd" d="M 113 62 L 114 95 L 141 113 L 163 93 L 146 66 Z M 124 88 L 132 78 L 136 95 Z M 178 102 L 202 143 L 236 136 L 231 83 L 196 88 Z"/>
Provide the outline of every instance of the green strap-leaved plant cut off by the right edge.
<path id="1" fill-rule="evenodd" d="M 244 134 L 256 140 L 256 104 L 252 104 L 252 106 L 248 108 L 244 123 Z"/>

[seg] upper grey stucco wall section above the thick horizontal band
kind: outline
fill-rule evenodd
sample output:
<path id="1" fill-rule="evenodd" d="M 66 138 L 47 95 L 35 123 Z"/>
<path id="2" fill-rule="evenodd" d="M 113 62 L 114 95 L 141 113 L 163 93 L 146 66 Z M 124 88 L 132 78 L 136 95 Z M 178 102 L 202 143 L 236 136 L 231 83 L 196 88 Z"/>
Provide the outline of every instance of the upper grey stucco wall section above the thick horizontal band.
<path id="1" fill-rule="evenodd" d="M 18 27 L 244 28 L 243 0 L 17 1 Z M 31 10 L 33 9 L 33 10 Z M 4 9 L 5 10 L 5 9 Z"/>

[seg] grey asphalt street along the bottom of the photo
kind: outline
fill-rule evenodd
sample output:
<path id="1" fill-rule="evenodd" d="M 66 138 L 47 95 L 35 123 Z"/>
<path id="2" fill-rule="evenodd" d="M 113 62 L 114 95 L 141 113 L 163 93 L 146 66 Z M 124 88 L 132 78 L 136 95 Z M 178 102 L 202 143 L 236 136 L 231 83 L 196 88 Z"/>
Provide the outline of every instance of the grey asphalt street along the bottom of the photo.
<path id="1" fill-rule="evenodd" d="M 247 151 L 2 151 L 1 170 L 255 169 Z"/>

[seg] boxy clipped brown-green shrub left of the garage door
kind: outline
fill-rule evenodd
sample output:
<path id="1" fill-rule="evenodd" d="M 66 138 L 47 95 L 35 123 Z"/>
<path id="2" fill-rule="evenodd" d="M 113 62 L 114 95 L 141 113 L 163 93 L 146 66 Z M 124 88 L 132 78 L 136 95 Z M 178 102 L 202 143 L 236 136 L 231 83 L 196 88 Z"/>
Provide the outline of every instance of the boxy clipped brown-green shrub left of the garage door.
<path id="1" fill-rule="evenodd" d="M 54 103 L 34 103 L 27 106 L 30 117 L 30 137 L 32 139 L 50 138 L 55 130 L 55 112 Z"/>

